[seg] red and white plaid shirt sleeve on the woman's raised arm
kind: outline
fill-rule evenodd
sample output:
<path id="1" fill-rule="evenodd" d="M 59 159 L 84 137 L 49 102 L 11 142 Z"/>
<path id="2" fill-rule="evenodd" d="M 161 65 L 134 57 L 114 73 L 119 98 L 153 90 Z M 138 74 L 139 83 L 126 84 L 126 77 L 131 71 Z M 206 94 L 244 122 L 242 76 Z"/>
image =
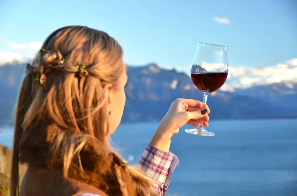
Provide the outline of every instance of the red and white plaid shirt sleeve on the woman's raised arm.
<path id="1" fill-rule="evenodd" d="M 161 151 L 148 144 L 139 164 L 148 177 L 160 185 L 152 183 L 159 196 L 165 196 L 171 176 L 179 159 L 171 152 Z"/>

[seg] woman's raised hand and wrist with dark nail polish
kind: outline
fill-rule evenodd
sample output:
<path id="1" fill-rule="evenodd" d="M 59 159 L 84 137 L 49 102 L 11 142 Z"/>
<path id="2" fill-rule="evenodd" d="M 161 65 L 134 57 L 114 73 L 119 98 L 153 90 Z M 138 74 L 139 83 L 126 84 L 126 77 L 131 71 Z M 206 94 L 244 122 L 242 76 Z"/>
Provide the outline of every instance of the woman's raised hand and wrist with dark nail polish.
<path id="1" fill-rule="evenodd" d="M 203 126 L 208 126 L 210 110 L 206 104 L 194 99 L 176 99 L 167 114 L 161 120 L 150 144 L 162 151 L 168 152 L 171 137 L 179 132 L 179 128 L 186 123 L 199 125 L 199 118 L 203 118 Z"/>

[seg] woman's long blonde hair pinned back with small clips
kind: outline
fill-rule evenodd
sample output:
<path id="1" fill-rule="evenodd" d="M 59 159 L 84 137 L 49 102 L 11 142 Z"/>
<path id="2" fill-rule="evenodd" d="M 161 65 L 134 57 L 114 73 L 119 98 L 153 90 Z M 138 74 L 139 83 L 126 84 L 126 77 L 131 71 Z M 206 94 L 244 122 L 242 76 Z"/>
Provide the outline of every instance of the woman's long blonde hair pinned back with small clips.
<path id="1" fill-rule="evenodd" d="M 32 67 L 37 71 L 27 73 L 20 86 L 10 196 L 18 192 L 19 160 L 61 168 L 67 177 L 73 163 L 84 169 L 84 152 L 101 156 L 96 159 L 100 164 L 113 152 L 106 135 L 108 111 L 103 86 L 115 84 L 124 71 L 119 43 L 105 32 L 68 26 L 53 32 L 42 48 L 49 51 L 36 55 Z M 63 64 L 63 70 L 51 69 L 55 61 Z M 76 65 L 86 65 L 90 76 L 77 78 Z M 43 74 L 46 85 L 40 87 L 36 78 Z M 129 173 L 143 194 L 154 195 L 147 186 L 148 177 L 139 169 L 129 168 Z"/>

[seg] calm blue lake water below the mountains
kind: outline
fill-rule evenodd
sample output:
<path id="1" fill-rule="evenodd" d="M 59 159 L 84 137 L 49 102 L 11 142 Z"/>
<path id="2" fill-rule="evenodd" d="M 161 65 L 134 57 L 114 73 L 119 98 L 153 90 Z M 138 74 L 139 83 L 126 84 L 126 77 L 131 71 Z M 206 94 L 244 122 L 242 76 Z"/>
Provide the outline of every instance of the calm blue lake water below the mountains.
<path id="1" fill-rule="evenodd" d="M 215 137 L 184 132 L 170 151 L 180 162 L 167 193 L 178 196 L 297 196 L 297 119 L 210 121 Z M 156 123 L 121 124 L 112 141 L 137 163 Z M 0 129 L 11 147 L 12 132 Z"/>

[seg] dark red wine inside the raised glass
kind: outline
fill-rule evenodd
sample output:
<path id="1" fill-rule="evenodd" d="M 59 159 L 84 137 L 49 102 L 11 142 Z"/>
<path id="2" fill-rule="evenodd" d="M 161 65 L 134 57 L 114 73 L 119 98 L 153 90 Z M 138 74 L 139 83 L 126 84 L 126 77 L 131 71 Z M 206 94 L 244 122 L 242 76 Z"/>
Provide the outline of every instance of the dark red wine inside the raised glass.
<path id="1" fill-rule="evenodd" d="M 201 73 L 191 74 L 195 86 L 202 92 L 214 92 L 225 83 L 228 73 Z"/>

